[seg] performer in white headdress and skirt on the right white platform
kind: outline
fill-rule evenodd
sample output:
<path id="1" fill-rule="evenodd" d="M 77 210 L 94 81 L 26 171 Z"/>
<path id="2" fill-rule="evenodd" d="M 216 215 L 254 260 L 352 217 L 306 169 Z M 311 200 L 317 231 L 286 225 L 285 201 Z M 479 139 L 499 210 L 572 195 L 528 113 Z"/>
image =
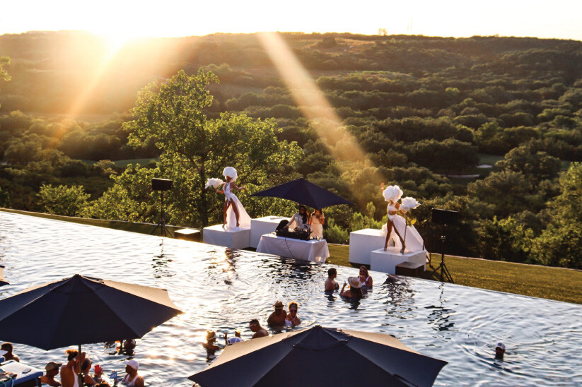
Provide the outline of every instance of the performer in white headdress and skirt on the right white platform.
<path id="1" fill-rule="evenodd" d="M 388 249 L 388 242 L 390 242 L 390 240 L 394 242 L 394 246 L 397 249 L 400 249 L 401 254 L 404 254 L 405 250 L 424 250 L 424 240 L 417 229 L 414 228 L 414 226 L 407 226 L 406 219 L 398 215 L 406 215 L 405 211 L 400 208 L 400 203 L 398 203 L 402 197 L 402 189 L 400 189 L 399 186 L 388 186 L 384 189 L 384 183 L 382 183 L 380 189 L 382 189 L 384 200 L 388 202 L 388 222 L 386 222 L 382 227 L 382 234 L 386 235 L 384 251 Z M 406 199 L 414 200 L 412 198 Z M 416 203 L 416 206 L 411 206 L 410 208 L 406 208 L 406 210 L 419 206 L 419 203 L 416 201 L 414 201 L 414 203 Z"/>

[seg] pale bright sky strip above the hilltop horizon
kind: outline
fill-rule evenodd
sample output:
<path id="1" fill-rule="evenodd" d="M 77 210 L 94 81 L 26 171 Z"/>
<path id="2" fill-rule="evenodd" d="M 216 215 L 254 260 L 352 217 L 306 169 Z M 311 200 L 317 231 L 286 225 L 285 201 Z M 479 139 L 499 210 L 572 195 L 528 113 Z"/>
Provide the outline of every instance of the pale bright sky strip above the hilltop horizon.
<path id="1" fill-rule="evenodd" d="M 582 40 L 582 1 L 3 1 L 0 34 L 87 30 L 127 40 L 214 32 L 354 32 Z"/>

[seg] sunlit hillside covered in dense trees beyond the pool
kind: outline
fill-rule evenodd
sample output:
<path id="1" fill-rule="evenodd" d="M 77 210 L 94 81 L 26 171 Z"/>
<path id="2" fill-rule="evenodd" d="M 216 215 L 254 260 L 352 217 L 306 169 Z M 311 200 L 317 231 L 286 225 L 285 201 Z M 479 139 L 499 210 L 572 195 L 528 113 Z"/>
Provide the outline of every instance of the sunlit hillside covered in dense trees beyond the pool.
<path id="1" fill-rule="evenodd" d="M 462 214 L 451 230 L 456 254 L 582 267 L 582 165 L 576 163 L 582 161 L 582 42 L 279 37 L 315 82 L 312 93 L 325 97 L 325 109 L 298 97 L 304 90 L 284 76 L 293 60 L 267 49 L 260 35 L 124 46 L 84 32 L 0 36 L 0 56 L 11 61 L 3 66 L 11 79 L 0 80 L 0 206 L 156 220 L 147 179 L 163 173 L 180 181 L 182 169 L 163 157 L 127 169 L 131 161 L 107 160 L 159 157 L 155 136 L 140 136 L 127 124 L 134 118 L 129 109 L 152 81 L 202 68 L 219 78 L 208 83 L 214 96 L 204 107 L 208 119 L 277 136 L 269 149 L 280 162 L 264 163 L 265 173 L 249 172 L 247 181 L 243 176 L 250 191 L 303 176 L 356 203 L 327 211 L 328 240 L 345 242 L 352 229 L 380 227 L 385 181 L 422 203 L 412 216 L 429 247 L 438 234 L 430 208 L 448 208 Z M 281 58 L 284 64 L 275 66 Z M 224 161 L 239 160 L 238 153 Z M 204 217 L 191 208 L 206 199 L 188 194 L 185 186 L 194 181 L 188 184 L 175 189 L 181 203 L 170 208 L 170 222 L 199 226 Z M 291 210 L 245 194 L 241 200 L 251 215 Z M 207 203 L 216 222 L 220 204 Z"/>

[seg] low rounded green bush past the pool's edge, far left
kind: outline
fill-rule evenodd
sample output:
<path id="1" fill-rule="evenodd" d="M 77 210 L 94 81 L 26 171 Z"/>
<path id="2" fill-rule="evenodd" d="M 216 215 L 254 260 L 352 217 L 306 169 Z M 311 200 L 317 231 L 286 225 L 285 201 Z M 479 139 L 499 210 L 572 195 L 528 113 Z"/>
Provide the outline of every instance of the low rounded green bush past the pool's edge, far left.
<path id="1" fill-rule="evenodd" d="M 85 193 L 83 186 L 42 184 L 38 198 L 40 207 L 46 213 L 78 216 L 85 210 L 89 194 Z"/>

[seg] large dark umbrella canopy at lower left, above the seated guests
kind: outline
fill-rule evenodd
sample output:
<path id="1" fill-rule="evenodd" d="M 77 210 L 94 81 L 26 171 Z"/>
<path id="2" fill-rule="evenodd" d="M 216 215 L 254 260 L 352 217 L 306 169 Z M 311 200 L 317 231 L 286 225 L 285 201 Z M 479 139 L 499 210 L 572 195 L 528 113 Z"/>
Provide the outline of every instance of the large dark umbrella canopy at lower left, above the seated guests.
<path id="1" fill-rule="evenodd" d="M 167 290 L 77 274 L 0 300 L 0 337 L 52 350 L 141 338 L 180 313 Z"/>

